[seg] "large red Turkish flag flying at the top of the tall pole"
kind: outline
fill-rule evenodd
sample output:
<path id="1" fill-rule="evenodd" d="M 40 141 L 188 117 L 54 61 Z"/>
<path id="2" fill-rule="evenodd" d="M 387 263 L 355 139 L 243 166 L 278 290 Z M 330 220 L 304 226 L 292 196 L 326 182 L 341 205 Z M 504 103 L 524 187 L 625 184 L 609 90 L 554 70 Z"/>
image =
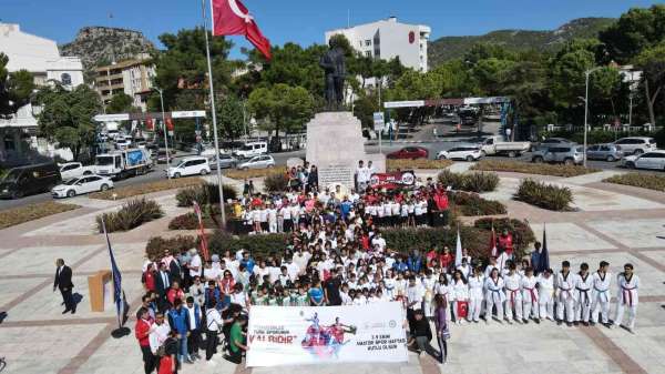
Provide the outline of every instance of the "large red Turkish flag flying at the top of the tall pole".
<path id="1" fill-rule="evenodd" d="M 245 36 L 266 60 L 270 60 L 270 41 L 260 32 L 241 0 L 212 0 L 212 3 L 213 36 Z"/>

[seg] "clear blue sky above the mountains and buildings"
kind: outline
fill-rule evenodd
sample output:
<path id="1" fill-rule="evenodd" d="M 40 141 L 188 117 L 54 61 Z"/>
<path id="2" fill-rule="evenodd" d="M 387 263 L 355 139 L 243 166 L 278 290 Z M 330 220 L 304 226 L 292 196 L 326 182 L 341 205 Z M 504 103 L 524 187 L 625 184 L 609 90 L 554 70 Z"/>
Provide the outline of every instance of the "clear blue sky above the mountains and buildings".
<path id="1" fill-rule="evenodd" d="M 204 0 L 206 3 L 209 0 Z M 618 17 L 644 0 L 244 0 L 273 44 L 323 43 L 326 30 L 385 19 L 427 24 L 431 40 L 477 36 L 498 29 L 551 30 L 581 17 Z M 112 16 L 112 17 L 111 17 Z M 350 17 L 349 17 L 350 16 Z M 209 16 L 208 16 L 209 17 Z M 58 43 L 85 26 L 142 31 L 155 42 L 165 32 L 202 24 L 202 0 L 0 0 L 0 22 Z M 209 23 L 209 22 L 208 22 Z M 232 57 L 241 57 L 242 37 L 232 37 Z"/>

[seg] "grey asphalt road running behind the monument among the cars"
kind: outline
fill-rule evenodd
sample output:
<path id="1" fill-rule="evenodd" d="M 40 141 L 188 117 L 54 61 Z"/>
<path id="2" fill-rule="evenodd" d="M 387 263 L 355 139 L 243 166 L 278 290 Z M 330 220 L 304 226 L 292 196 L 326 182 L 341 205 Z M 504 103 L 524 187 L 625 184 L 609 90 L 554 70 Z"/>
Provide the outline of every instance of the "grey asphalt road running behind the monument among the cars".
<path id="1" fill-rule="evenodd" d="M 460 143 L 461 142 L 459 142 L 459 141 L 439 141 L 439 142 L 419 143 L 417 145 L 427 148 L 429 150 L 430 158 L 433 159 L 433 158 L 436 158 L 437 153 L 439 153 L 440 151 L 449 150 L 453 146 L 459 145 Z M 390 142 L 383 142 L 383 144 L 381 144 L 381 152 L 387 154 L 387 153 L 397 151 L 407 145 L 410 145 L 410 144 L 405 144 L 405 143 L 390 144 Z M 379 145 L 366 145 L 365 149 L 369 153 L 378 153 L 379 152 Z M 180 158 L 185 156 L 185 155 L 186 154 L 178 154 L 178 156 L 175 159 L 175 161 L 177 162 L 177 160 Z M 274 153 L 273 158 L 275 159 L 275 162 L 278 165 L 284 165 L 284 164 L 286 164 L 286 161 L 290 158 L 305 158 L 305 150 L 294 151 L 294 152 L 284 152 L 284 153 Z M 505 158 L 505 156 L 488 156 L 488 159 L 489 160 L 512 160 L 512 161 L 530 162 L 531 154 L 525 153 L 522 156 L 514 158 L 514 159 L 510 159 L 510 158 Z M 618 162 L 589 161 L 587 165 L 590 168 L 595 168 L 595 169 L 601 169 L 601 170 L 621 169 Z M 134 176 L 134 178 L 130 178 L 126 180 L 115 182 L 115 186 L 120 188 L 120 186 L 126 186 L 126 185 L 134 185 L 134 184 L 141 184 L 141 183 L 145 183 L 145 182 L 164 179 L 165 178 L 164 176 L 165 169 L 166 169 L 165 164 L 158 164 L 152 172 L 150 172 L 147 174 L 139 175 L 139 176 Z M 640 171 L 640 172 L 662 174 L 662 172 L 657 172 L 657 171 Z M 213 171 L 213 173 L 214 173 L 214 171 Z M 22 205 L 27 205 L 27 204 L 31 204 L 31 203 L 49 201 L 49 200 L 52 200 L 50 193 L 41 193 L 41 194 L 37 194 L 37 195 L 18 199 L 18 200 L 0 200 L 0 211 L 11 209 L 11 208 L 22 206 Z M 66 199 L 62 200 L 62 201 L 66 202 Z"/>

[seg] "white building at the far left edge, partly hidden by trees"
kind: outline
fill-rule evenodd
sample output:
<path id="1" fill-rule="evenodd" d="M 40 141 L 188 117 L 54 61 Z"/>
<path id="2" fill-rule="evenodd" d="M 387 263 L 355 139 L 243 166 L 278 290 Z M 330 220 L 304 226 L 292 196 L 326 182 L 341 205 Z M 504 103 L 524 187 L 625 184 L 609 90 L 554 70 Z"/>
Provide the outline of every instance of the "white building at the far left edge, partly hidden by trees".
<path id="1" fill-rule="evenodd" d="M 83 64 L 76 57 L 61 57 L 53 40 L 22 32 L 14 23 L 0 23 L 0 52 L 7 54 L 9 72 L 28 70 L 37 85 L 58 81 L 65 88 L 83 84 Z M 34 159 L 38 152 L 52 156 L 52 145 L 37 140 L 37 119 L 31 104 L 16 115 L 0 119 L 0 164 L 20 164 Z"/>

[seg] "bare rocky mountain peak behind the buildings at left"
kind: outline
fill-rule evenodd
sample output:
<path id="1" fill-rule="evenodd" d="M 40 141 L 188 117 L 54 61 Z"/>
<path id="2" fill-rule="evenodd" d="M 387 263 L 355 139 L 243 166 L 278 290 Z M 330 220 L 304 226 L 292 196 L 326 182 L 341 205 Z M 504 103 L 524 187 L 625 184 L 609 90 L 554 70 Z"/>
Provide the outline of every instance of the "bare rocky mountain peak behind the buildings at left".
<path id="1" fill-rule="evenodd" d="M 155 46 L 140 31 L 86 27 L 79 30 L 74 41 L 60 46 L 60 53 L 80 57 L 85 71 L 91 72 L 113 60 L 127 60 L 154 49 Z"/>

